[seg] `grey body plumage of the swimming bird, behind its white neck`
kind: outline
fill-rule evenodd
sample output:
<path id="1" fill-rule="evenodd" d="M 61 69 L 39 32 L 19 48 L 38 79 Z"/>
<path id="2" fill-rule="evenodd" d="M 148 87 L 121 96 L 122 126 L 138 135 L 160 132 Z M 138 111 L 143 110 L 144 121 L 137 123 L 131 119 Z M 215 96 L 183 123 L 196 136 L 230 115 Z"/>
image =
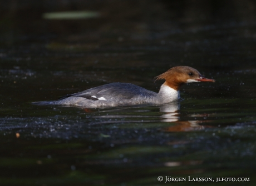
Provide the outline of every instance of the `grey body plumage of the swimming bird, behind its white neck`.
<path id="1" fill-rule="evenodd" d="M 76 105 L 86 108 L 116 107 L 145 103 L 159 103 L 157 93 L 130 83 L 110 83 L 66 95 L 58 100 L 35 102 L 35 104 L 40 105 Z"/>

